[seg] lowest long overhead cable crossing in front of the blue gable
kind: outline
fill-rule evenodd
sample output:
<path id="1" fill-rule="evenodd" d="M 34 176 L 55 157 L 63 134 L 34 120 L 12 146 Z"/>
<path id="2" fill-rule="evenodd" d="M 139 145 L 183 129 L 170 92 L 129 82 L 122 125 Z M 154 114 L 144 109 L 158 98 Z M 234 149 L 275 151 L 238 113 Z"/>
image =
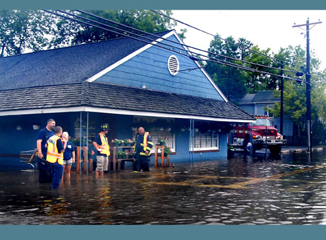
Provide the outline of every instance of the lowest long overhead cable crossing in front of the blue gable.
<path id="1" fill-rule="evenodd" d="M 162 44 L 162 45 L 166 45 L 166 44 L 163 44 L 163 43 L 161 43 L 161 42 L 159 42 L 159 41 L 157 41 L 157 40 L 153 40 L 153 39 L 151 39 L 151 38 L 148 38 L 148 39 L 150 39 L 150 41 L 151 41 L 151 42 L 148 42 L 148 41 L 146 41 L 146 40 L 142 40 L 142 39 L 136 38 L 135 36 L 138 36 L 138 37 L 141 37 L 141 38 L 145 38 L 145 37 L 144 37 L 144 36 L 141 36 L 141 35 L 139 35 L 139 34 L 135 34 L 135 33 L 132 33 L 132 32 L 128 32 L 128 31 L 126 31 L 126 30 L 124 30 L 124 29 L 119 29 L 119 30 L 120 30 L 120 31 L 124 31 L 124 32 L 128 32 L 129 34 L 133 34 L 133 35 L 135 35 L 135 36 L 129 36 L 129 35 L 124 34 L 124 33 L 121 33 L 121 32 L 115 32 L 115 31 L 113 31 L 113 30 L 111 30 L 111 29 L 106 29 L 106 28 L 104 28 L 104 27 L 100 27 L 100 26 L 97 26 L 97 25 L 93 25 L 92 23 L 86 23 L 86 22 L 84 22 L 84 21 L 80 21 L 80 20 L 78 20 L 78 19 L 73 19 L 73 18 L 71 18 L 71 17 L 69 17 L 69 16 L 65 16 L 65 15 L 62 15 L 62 14 L 58 14 L 57 12 L 51 12 L 51 11 L 49 11 L 49 10 L 43 10 L 43 11 L 44 11 L 44 12 L 48 12 L 48 13 L 50 13 L 50 14 L 55 14 L 55 15 L 57 15 L 57 16 L 61 16 L 61 17 L 63 17 L 63 18 L 69 19 L 69 20 L 71 20 L 71 21 L 76 21 L 76 22 L 78 22 L 78 23 L 82 23 L 82 24 L 85 24 L 85 25 L 90 25 L 90 26 L 92 26 L 92 27 L 97 27 L 97 28 L 100 28 L 100 29 L 102 29 L 102 30 L 104 30 L 104 31 L 113 32 L 113 33 L 115 33 L 115 34 L 119 34 L 119 35 L 121 35 L 121 36 L 125 36 L 125 37 L 127 37 L 127 38 L 132 38 L 132 39 L 134 39 L 134 40 L 139 40 L 139 41 L 141 41 L 141 42 L 143 42 L 143 43 L 147 43 L 147 44 L 150 44 L 150 45 L 155 45 L 156 47 L 161 47 L 161 48 L 163 48 L 163 49 L 166 49 L 167 51 L 173 51 L 173 52 L 178 53 L 178 54 L 181 54 L 181 55 L 183 55 L 183 56 L 187 56 L 188 58 L 191 58 L 191 57 L 192 57 L 193 60 L 196 60 L 196 61 L 200 61 L 200 60 L 202 60 L 202 59 L 194 58 L 193 56 L 189 56 L 188 54 L 182 53 L 181 51 L 176 51 L 176 50 L 173 50 L 173 49 L 168 49 L 167 47 L 163 47 L 163 46 L 161 46 L 161 45 L 156 45 L 156 44 L 152 43 L 152 42 L 156 42 L 156 43 L 160 43 L 160 44 Z M 60 11 L 60 12 L 62 12 L 62 11 Z M 67 13 L 67 14 L 68 14 L 68 13 Z M 83 17 L 82 17 L 82 18 L 83 18 Z M 102 24 L 102 25 L 105 25 L 104 23 L 101 23 L 101 24 Z M 106 27 L 111 27 L 111 28 L 115 28 L 115 29 L 117 29 L 117 27 L 113 27 L 113 26 L 110 26 L 110 25 L 106 25 Z M 156 36 L 156 35 L 155 35 L 155 36 Z M 156 38 L 159 38 L 159 36 L 156 36 Z M 177 48 L 177 47 L 175 47 L 175 46 L 172 46 L 172 47 Z M 183 51 L 187 51 L 187 52 L 191 52 L 191 51 L 188 51 L 188 50 L 185 50 L 185 49 L 182 49 L 182 50 L 183 50 Z M 196 54 L 198 54 L 198 53 L 196 53 Z M 202 55 L 202 56 L 203 56 L 203 55 Z M 208 57 L 205 56 L 205 58 L 208 58 Z M 224 64 L 224 65 L 229 66 L 229 67 L 235 67 L 235 68 L 243 69 L 243 70 L 246 70 L 246 71 L 253 71 L 253 72 L 257 72 L 257 73 L 263 73 L 263 74 L 267 74 L 267 75 L 274 75 L 274 76 L 277 76 L 277 77 L 283 77 L 283 78 L 286 78 L 286 79 L 288 79 L 288 80 L 295 80 L 295 81 L 304 82 L 303 80 L 299 80 L 299 79 L 296 79 L 296 78 L 293 78 L 293 77 L 277 75 L 277 74 L 275 74 L 275 73 L 269 73 L 269 72 L 266 72 L 266 71 L 259 71 L 259 70 L 257 70 L 257 69 L 251 69 L 251 68 L 248 68 L 248 67 L 243 67 L 243 66 L 241 66 L 241 65 L 234 64 L 234 63 L 231 63 L 231 62 L 226 62 L 226 61 L 224 61 L 224 60 L 219 60 L 219 59 L 216 59 L 216 58 L 213 58 L 213 60 L 209 59 L 209 60 L 205 60 L 205 61 L 216 62 L 216 63 L 218 63 L 218 64 Z"/>

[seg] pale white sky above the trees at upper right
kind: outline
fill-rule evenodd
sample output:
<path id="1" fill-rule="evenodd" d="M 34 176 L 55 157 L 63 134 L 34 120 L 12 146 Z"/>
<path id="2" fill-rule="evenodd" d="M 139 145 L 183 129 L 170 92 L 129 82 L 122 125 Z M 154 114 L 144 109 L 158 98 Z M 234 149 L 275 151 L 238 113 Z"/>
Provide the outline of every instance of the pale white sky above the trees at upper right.
<path id="1" fill-rule="evenodd" d="M 222 38 L 246 38 L 259 49 L 270 48 L 277 53 L 281 47 L 301 45 L 306 49 L 305 24 L 310 25 L 310 52 L 321 61 L 320 70 L 326 69 L 326 10 L 172 10 L 172 17 Z M 177 32 L 187 28 L 186 45 L 207 50 L 213 36 L 178 23 Z M 303 34 L 301 34 L 303 33 Z"/>

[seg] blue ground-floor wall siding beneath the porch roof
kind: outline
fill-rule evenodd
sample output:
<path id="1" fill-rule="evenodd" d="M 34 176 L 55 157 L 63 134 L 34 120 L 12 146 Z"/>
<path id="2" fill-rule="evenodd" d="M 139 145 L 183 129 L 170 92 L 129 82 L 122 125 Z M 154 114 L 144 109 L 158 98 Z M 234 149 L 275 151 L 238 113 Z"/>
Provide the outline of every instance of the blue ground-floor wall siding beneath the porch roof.
<path id="1" fill-rule="evenodd" d="M 78 112 L 58 113 L 52 115 L 23 115 L 23 116 L 7 116 L 0 117 L 0 138 L 5 141 L 0 141 L 0 154 L 19 155 L 21 151 L 31 150 L 36 148 L 36 136 L 38 130 L 33 130 L 32 124 L 40 124 L 40 128 L 45 128 L 46 121 L 49 118 L 56 120 L 57 125 L 61 125 L 65 131 L 68 131 L 73 136 L 73 123 L 80 117 Z M 83 114 L 83 125 L 86 124 L 86 114 Z M 132 121 L 130 115 L 104 115 L 98 113 L 90 114 L 89 127 L 97 127 L 100 123 L 108 122 L 111 128 L 109 133 L 110 139 L 117 136 L 117 139 L 132 138 Z M 178 123 L 178 120 L 176 120 Z M 16 125 L 21 125 L 23 130 L 16 130 Z M 218 158 L 226 158 L 226 133 L 220 132 L 220 152 L 202 152 L 194 154 L 194 160 L 210 160 Z M 189 161 L 189 132 L 176 133 L 176 154 L 170 156 L 172 163 Z M 130 165 L 130 163 L 127 163 Z M 151 157 L 151 165 L 154 165 L 154 156 Z M 3 167 L 23 167 L 28 169 L 28 165 L 20 163 L 19 158 L 0 158 L 0 166 Z"/>

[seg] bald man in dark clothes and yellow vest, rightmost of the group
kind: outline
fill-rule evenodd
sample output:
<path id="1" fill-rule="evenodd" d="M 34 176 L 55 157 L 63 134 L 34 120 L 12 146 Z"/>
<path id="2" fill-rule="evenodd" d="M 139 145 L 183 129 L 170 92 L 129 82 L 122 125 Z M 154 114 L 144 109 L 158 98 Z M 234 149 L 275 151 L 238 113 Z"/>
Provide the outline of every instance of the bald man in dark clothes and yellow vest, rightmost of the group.
<path id="1" fill-rule="evenodd" d="M 152 136 L 143 127 L 138 128 L 134 151 L 136 152 L 135 172 L 150 171 L 150 149 L 153 147 Z"/>

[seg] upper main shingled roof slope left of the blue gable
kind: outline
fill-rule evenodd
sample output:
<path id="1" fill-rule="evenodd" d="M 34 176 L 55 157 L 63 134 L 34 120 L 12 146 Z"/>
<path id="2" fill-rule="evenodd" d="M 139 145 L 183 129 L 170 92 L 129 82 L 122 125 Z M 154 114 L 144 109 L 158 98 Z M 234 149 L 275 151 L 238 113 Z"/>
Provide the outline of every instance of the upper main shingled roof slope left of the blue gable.
<path id="1" fill-rule="evenodd" d="M 145 45 L 139 40 L 117 38 L 0 58 L 0 91 L 82 83 Z"/>

